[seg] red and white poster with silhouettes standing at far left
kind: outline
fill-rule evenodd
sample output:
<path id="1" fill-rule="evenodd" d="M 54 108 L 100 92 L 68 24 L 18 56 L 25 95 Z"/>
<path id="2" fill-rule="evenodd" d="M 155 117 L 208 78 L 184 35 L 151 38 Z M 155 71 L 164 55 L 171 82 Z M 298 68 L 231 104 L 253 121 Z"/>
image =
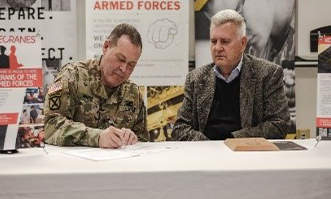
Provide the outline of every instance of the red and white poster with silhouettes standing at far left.
<path id="1" fill-rule="evenodd" d="M 0 151 L 44 141 L 40 48 L 39 33 L 0 32 Z"/>

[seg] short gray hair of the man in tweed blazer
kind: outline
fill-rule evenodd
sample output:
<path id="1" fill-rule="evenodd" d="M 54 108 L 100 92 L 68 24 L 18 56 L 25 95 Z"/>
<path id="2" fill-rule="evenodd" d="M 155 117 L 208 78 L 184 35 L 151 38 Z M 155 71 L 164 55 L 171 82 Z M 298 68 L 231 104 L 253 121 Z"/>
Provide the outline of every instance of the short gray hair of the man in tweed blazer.
<path id="1" fill-rule="evenodd" d="M 236 11 L 231 9 L 221 10 L 211 18 L 211 26 L 221 26 L 227 22 L 232 22 L 238 27 L 238 36 L 246 36 L 245 19 Z"/>

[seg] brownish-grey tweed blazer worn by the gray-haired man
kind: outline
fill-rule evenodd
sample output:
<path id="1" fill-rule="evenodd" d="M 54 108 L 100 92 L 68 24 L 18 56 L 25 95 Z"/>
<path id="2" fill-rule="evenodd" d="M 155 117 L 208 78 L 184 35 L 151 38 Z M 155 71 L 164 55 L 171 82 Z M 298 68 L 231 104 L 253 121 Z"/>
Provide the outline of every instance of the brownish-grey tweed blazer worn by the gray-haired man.
<path id="1" fill-rule="evenodd" d="M 174 140 L 208 140 L 203 132 L 216 88 L 214 65 L 211 63 L 188 73 L 183 104 L 172 132 Z M 281 66 L 244 55 L 240 73 L 242 128 L 232 135 L 235 138 L 285 138 L 290 129 L 290 114 Z"/>

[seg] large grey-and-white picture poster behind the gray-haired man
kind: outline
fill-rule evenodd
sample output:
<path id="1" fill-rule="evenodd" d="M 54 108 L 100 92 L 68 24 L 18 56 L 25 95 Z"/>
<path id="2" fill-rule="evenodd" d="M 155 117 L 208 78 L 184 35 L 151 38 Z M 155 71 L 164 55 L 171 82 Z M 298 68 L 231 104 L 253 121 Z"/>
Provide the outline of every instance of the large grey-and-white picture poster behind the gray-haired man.
<path id="1" fill-rule="evenodd" d="M 296 132 L 295 106 L 295 0 L 195 0 L 196 67 L 212 62 L 210 19 L 217 12 L 233 9 L 246 21 L 248 43 L 245 53 L 269 60 L 284 69 L 284 90 Z"/>

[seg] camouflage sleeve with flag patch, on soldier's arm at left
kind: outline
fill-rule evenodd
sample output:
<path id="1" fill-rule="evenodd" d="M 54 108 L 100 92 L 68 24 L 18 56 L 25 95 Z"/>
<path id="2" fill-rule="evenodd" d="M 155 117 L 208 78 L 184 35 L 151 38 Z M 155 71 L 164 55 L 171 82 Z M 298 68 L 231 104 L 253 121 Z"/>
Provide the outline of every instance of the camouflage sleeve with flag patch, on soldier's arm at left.
<path id="1" fill-rule="evenodd" d="M 77 94 L 77 69 L 65 67 L 48 88 L 45 98 L 45 140 L 59 146 L 99 146 L 102 130 L 72 120 Z"/>

